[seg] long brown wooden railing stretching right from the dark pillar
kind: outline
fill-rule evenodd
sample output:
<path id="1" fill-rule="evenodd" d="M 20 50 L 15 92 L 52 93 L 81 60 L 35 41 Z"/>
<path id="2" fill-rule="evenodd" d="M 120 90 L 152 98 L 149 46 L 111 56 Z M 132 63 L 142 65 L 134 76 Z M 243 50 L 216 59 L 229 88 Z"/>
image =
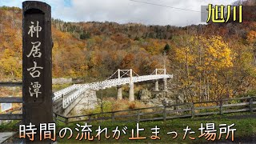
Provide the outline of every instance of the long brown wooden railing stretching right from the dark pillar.
<path id="1" fill-rule="evenodd" d="M 194 118 L 211 114 L 227 114 L 235 112 L 253 112 L 256 110 L 256 98 L 231 98 L 209 102 L 191 102 L 166 106 L 146 107 L 142 109 L 118 110 L 98 114 L 86 114 L 65 117 L 54 114 L 56 121 L 66 124 L 72 122 L 143 122 L 172 118 Z"/>

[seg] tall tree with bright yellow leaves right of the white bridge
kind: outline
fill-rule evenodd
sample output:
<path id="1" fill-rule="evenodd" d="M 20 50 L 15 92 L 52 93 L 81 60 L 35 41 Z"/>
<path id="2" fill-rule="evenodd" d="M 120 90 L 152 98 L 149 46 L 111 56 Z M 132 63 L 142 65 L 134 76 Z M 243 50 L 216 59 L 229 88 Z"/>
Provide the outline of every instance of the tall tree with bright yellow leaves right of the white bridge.
<path id="1" fill-rule="evenodd" d="M 186 98 L 218 99 L 222 95 L 220 74 L 233 66 L 230 47 L 220 36 L 191 36 L 183 40 L 175 50 L 175 60 L 182 71 L 179 81 Z"/>

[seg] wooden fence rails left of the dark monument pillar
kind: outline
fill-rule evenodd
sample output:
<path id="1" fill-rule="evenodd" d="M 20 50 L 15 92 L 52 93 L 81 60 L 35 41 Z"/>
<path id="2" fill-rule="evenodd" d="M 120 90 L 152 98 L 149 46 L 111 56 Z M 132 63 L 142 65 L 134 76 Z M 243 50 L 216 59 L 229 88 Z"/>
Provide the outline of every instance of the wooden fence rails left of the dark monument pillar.
<path id="1" fill-rule="evenodd" d="M 0 87 L 4 86 L 22 86 L 22 82 L 0 82 Z M 22 103 L 22 97 L 0 97 L 0 103 Z M 22 110 L 22 107 L 11 110 L 6 114 L 0 114 L 0 120 L 22 120 L 22 114 L 13 114 L 17 110 Z"/>

